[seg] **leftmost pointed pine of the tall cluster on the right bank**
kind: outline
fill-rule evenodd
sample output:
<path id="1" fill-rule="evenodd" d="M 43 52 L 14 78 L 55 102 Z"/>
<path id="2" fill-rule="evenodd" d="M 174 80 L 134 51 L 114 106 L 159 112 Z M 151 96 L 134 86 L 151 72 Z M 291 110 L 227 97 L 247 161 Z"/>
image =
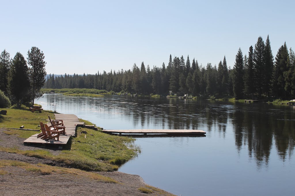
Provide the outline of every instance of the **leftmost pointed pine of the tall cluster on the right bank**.
<path id="1" fill-rule="evenodd" d="M 241 48 L 239 48 L 236 61 L 234 66 L 234 81 L 233 81 L 233 92 L 236 99 L 241 99 L 243 97 L 243 54 Z"/>

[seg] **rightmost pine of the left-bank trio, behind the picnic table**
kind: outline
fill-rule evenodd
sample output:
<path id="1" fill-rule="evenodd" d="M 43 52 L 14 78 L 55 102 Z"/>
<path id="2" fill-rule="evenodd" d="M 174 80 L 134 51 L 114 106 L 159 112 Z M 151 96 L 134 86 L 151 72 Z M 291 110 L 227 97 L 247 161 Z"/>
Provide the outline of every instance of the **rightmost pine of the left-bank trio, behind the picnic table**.
<path id="1" fill-rule="evenodd" d="M 31 98 L 32 105 L 34 105 L 35 98 L 39 98 L 42 96 L 41 88 L 45 83 L 46 70 L 44 61 L 44 53 L 40 51 L 37 47 L 32 47 L 31 51 L 28 51 L 28 65 L 30 72 L 30 81 L 31 81 Z"/>

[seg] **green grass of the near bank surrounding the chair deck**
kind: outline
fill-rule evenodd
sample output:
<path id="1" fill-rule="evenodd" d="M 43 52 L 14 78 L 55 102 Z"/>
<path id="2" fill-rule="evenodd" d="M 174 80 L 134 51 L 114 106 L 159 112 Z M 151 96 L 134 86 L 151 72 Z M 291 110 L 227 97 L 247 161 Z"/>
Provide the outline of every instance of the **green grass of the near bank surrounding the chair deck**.
<path id="1" fill-rule="evenodd" d="M 39 129 L 39 121 L 45 123 L 48 118 L 47 115 L 53 115 L 53 112 L 50 111 L 32 113 L 28 109 L 5 110 L 7 110 L 7 115 L 0 115 L 0 127 L 2 128 L 19 128 L 24 125 L 25 128 Z M 87 122 L 88 125 L 92 125 L 89 121 L 83 121 Z M 86 134 L 81 133 L 82 131 L 86 131 Z M 4 133 L 28 138 L 38 132 L 8 129 Z M 70 150 L 62 150 L 59 155 L 53 155 L 47 150 L 20 150 L 3 146 L 0 146 L 0 151 L 55 160 L 74 168 L 94 171 L 117 170 L 119 165 L 134 158 L 140 151 L 133 144 L 135 140 L 133 138 L 108 135 L 86 128 L 78 128 L 77 134 L 77 137 L 71 140 Z"/>

